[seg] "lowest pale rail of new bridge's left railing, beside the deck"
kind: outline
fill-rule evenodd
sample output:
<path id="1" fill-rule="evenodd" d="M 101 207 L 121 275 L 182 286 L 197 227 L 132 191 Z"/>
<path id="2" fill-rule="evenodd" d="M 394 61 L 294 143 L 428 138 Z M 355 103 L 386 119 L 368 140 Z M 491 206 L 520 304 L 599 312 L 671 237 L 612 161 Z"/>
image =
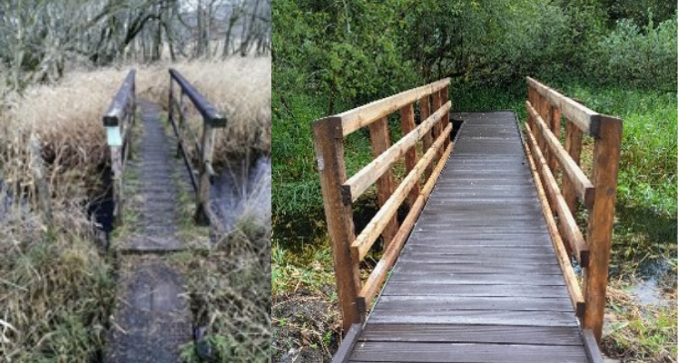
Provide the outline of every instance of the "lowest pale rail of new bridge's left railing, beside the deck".
<path id="1" fill-rule="evenodd" d="M 369 305 L 372 303 L 372 299 L 374 299 L 375 295 L 377 295 L 381 284 L 384 282 L 384 280 L 386 280 L 388 270 L 393 267 L 393 264 L 398 259 L 400 250 L 405 244 L 405 241 L 408 239 L 409 233 L 414 228 L 414 224 L 418 220 L 421 211 L 424 209 L 424 205 L 426 204 L 431 191 L 433 191 L 433 187 L 436 185 L 437 178 L 443 171 L 445 163 L 447 162 L 447 158 L 454 149 L 454 145 L 454 142 L 450 142 L 447 145 L 447 149 L 445 152 L 443 152 L 443 157 L 437 162 L 436 168 L 431 173 L 431 176 L 424 185 L 424 188 L 422 188 L 422 190 L 419 192 L 417 201 L 415 201 L 415 203 L 412 205 L 412 208 L 408 212 L 408 216 L 405 218 L 405 221 L 403 221 L 400 229 L 398 230 L 398 234 L 396 234 L 396 237 L 391 241 L 391 244 L 388 246 L 388 250 L 386 250 L 384 255 L 381 256 L 381 260 L 378 261 L 377 266 L 369 274 L 368 280 L 365 282 L 362 289 L 360 289 L 359 297 L 365 299 L 366 307 L 369 307 Z"/>

